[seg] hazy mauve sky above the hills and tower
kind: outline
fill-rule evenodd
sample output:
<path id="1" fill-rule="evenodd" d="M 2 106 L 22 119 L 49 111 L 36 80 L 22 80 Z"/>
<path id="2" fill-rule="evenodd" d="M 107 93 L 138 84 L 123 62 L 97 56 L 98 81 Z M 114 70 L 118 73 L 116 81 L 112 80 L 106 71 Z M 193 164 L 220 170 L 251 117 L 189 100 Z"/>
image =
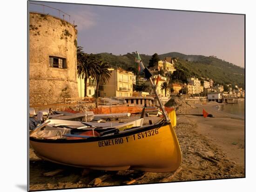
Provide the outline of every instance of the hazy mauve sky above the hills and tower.
<path id="1" fill-rule="evenodd" d="M 77 25 L 78 45 L 87 53 L 215 55 L 244 67 L 244 15 L 34 3 L 69 14 L 70 23 Z M 29 10 L 59 16 L 57 10 L 39 5 L 30 4 Z"/>

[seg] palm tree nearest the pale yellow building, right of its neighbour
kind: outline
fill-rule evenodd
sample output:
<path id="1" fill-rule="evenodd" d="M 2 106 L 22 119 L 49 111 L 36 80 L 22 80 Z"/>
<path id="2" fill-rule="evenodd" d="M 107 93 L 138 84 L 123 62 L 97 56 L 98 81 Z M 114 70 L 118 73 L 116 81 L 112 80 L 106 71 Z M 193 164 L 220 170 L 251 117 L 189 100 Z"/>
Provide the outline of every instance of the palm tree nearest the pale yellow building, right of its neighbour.
<path id="1" fill-rule="evenodd" d="M 96 108 L 98 108 L 98 97 L 99 97 L 99 83 L 105 84 L 109 81 L 111 74 L 108 70 L 110 65 L 104 59 L 97 60 L 97 71 L 95 74 L 96 80 Z"/>

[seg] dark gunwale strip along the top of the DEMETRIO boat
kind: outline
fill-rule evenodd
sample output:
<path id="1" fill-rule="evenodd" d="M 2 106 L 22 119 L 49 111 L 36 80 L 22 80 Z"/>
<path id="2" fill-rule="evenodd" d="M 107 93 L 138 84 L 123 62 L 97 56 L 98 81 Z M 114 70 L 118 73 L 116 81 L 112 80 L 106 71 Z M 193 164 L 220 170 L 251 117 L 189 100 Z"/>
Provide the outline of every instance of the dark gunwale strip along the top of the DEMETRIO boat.
<path id="1" fill-rule="evenodd" d="M 159 122 L 158 124 L 154 125 L 149 125 L 145 126 L 144 128 L 137 129 L 128 133 L 121 133 L 121 134 L 113 134 L 109 136 L 101 136 L 101 137 L 90 137 L 88 139 L 77 139 L 77 140 L 66 140 L 66 139 L 57 139 L 57 140 L 50 140 L 50 139 L 37 139 L 34 137 L 29 137 L 29 141 L 35 141 L 35 142 L 40 142 L 40 143 L 86 143 L 86 142 L 95 142 L 95 141 L 104 141 L 104 140 L 109 140 L 109 139 L 116 139 L 120 137 L 125 137 L 133 134 L 138 134 L 144 131 L 152 130 L 155 128 L 161 128 L 166 125 L 171 125 L 170 122 Z"/>

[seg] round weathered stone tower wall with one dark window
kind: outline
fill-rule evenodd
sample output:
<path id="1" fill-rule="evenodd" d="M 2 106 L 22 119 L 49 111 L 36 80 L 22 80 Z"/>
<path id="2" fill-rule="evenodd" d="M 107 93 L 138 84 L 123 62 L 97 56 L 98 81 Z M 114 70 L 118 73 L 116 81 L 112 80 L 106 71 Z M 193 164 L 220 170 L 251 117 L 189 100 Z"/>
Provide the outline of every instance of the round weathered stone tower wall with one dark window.
<path id="1" fill-rule="evenodd" d="M 78 97 L 77 30 L 54 16 L 29 14 L 29 104 Z"/>

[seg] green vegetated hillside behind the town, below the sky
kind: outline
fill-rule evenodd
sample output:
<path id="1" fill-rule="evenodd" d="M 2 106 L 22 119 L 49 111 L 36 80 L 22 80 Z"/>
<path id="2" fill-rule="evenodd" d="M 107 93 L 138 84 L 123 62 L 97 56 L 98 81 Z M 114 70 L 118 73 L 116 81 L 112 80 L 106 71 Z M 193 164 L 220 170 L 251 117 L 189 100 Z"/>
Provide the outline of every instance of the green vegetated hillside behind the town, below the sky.
<path id="1" fill-rule="evenodd" d="M 104 58 L 113 68 L 121 67 L 125 70 L 134 71 L 137 74 L 135 65 L 135 52 L 125 55 L 113 55 L 111 53 L 96 54 Z M 151 55 L 140 54 L 142 62 L 148 66 Z M 175 68 L 177 71 L 172 75 L 173 80 L 186 82 L 188 77 L 210 78 L 218 84 L 238 85 L 244 89 L 244 68 L 215 57 L 202 55 L 185 55 L 178 52 L 170 52 L 158 55 L 160 59 L 165 57 L 177 58 Z"/>

